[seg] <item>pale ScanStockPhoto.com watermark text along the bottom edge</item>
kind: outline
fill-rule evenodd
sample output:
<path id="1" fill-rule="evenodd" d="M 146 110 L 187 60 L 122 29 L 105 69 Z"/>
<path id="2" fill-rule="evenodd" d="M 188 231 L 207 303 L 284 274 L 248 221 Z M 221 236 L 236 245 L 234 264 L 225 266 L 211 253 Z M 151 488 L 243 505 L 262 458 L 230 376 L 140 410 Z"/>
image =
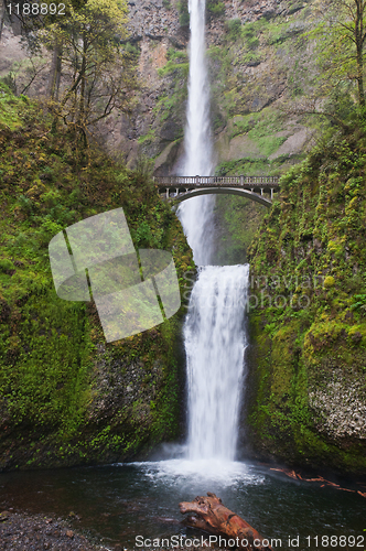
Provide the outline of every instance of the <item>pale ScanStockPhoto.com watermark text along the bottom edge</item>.
<path id="1" fill-rule="evenodd" d="M 251 542 L 250 542 L 251 543 Z M 261 547 L 282 547 L 282 540 L 277 539 L 256 539 L 251 543 L 254 548 Z M 246 548 L 249 545 L 249 541 L 245 538 L 223 538 L 222 536 L 201 536 L 201 538 L 187 538 L 186 536 L 175 534 L 170 538 L 144 538 L 143 536 L 136 536 L 134 545 L 137 548 L 148 548 L 148 549 L 174 549 L 181 548 L 202 548 L 211 545 L 219 545 L 224 548 Z"/>

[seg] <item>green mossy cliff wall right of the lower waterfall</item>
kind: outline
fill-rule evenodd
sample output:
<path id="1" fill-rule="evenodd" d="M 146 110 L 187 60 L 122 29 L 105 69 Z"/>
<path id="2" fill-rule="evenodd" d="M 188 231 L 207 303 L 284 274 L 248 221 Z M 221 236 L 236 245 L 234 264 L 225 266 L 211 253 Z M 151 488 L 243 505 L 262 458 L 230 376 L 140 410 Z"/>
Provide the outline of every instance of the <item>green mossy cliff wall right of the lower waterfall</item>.
<path id="1" fill-rule="evenodd" d="M 280 201 L 249 247 L 258 299 L 250 314 L 258 357 L 249 419 L 267 453 L 364 473 L 359 439 L 347 435 L 344 445 L 334 437 L 309 399 L 340 374 L 345 388 L 364 374 L 366 134 L 351 120 L 347 131 L 327 130 L 282 176 Z"/>

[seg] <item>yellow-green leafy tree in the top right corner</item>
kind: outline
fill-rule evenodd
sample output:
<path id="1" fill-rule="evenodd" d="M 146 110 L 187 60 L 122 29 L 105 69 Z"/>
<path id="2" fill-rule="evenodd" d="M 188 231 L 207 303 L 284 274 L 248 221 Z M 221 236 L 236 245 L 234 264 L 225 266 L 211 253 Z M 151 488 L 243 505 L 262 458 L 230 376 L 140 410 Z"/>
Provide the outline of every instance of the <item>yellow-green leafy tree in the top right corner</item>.
<path id="1" fill-rule="evenodd" d="M 323 0 L 314 15 L 320 22 L 300 39 L 306 36 L 317 54 L 313 93 L 283 101 L 282 109 L 323 116 L 348 132 L 349 117 L 366 116 L 366 0 Z"/>

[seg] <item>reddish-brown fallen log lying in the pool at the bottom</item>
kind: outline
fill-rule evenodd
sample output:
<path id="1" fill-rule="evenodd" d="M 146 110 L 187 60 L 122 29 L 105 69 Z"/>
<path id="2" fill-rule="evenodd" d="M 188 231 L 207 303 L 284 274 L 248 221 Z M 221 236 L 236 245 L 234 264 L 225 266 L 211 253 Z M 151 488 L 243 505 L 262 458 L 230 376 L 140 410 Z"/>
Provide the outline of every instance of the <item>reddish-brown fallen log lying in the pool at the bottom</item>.
<path id="1" fill-rule="evenodd" d="M 262 538 L 243 518 L 224 507 L 215 494 L 207 491 L 207 496 L 180 504 L 182 515 L 194 514 L 185 519 L 186 526 L 226 537 L 226 542 L 235 540 L 236 545 L 245 551 L 273 551 L 267 539 Z"/>

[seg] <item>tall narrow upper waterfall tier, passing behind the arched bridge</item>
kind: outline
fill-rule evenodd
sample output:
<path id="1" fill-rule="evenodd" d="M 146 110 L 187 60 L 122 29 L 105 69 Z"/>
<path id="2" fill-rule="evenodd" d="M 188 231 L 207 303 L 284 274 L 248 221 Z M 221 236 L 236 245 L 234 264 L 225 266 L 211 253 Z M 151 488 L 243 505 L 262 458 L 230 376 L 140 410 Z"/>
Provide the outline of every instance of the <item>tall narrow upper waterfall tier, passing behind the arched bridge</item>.
<path id="1" fill-rule="evenodd" d="M 209 120 L 209 84 L 205 60 L 205 0 L 190 0 L 190 75 L 182 176 L 209 176 L 214 171 L 213 137 Z M 177 215 L 182 222 L 194 261 L 208 264 L 213 256 L 214 195 L 185 201 Z"/>

